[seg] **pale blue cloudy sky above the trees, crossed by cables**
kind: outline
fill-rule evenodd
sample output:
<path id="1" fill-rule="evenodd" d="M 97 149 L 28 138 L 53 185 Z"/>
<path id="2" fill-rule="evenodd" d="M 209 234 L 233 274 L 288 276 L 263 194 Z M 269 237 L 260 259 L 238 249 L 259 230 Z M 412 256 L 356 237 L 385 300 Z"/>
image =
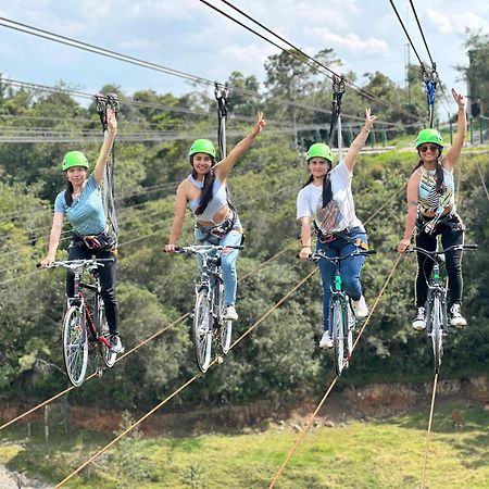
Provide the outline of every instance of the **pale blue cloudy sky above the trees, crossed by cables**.
<path id="1" fill-rule="evenodd" d="M 214 5 L 238 15 L 220 0 Z M 235 0 L 234 3 L 309 54 L 333 48 L 339 72 L 380 71 L 403 85 L 406 38 L 387 0 Z M 415 1 L 441 79 L 465 92 L 454 66 L 467 64 L 466 27 L 489 33 L 489 2 Z M 408 0 L 396 0 L 422 59 L 428 55 Z M 152 61 L 192 75 L 225 80 L 233 71 L 264 78 L 274 48 L 199 0 L 0 0 L 0 15 L 85 42 Z M 416 58 L 411 52 L 411 60 Z M 192 87 L 174 76 L 131 66 L 0 26 L 0 72 L 4 77 L 97 92 L 115 83 L 181 95 Z"/>

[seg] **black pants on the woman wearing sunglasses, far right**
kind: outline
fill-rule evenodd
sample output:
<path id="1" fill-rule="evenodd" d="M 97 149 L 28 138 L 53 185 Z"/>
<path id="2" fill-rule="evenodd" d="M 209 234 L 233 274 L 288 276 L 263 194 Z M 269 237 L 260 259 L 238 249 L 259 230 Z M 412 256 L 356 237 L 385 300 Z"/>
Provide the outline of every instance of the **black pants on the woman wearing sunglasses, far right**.
<path id="1" fill-rule="evenodd" d="M 457 217 L 457 216 L 456 216 Z M 459 217 L 457 217 L 459 218 Z M 459 225 L 460 223 L 460 225 Z M 464 241 L 463 225 L 459 221 L 450 220 L 447 224 L 438 225 L 432 235 L 421 231 L 416 235 L 416 246 L 428 251 L 437 249 L 437 236 L 441 235 L 443 248 L 453 244 L 462 244 Z M 424 308 L 428 297 L 428 280 L 431 275 L 434 262 L 423 253 L 417 253 L 416 275 L 416 306 Z M 462 303 L 462 250 L 448 251 L 446 253 L 446 266 L 448 275 L 448 288 L 451 304 Z"/>

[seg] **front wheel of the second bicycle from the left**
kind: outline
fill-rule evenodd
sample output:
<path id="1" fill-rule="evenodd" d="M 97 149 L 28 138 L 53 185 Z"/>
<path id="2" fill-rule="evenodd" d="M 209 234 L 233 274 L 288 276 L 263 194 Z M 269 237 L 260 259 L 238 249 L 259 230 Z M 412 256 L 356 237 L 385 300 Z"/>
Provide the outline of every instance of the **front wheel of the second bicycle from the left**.
<path id="1" fill-rule="evenodd" d="M 212 311 L 206 290 L 200 290 L 193 312 L 193 350 L 197 366 L 205 373 L 211 363 L 212 349 Z"/>

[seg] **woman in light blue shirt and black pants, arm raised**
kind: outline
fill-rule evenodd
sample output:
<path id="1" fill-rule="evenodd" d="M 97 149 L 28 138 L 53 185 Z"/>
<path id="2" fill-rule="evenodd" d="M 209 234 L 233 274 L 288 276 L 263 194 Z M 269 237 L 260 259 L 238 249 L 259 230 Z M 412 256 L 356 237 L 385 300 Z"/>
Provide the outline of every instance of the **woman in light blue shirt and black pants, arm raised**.
<path id="1" fill-rule="evenodd" d="M 105 263 L 103 267 L 99 268 L 99 275 L 112 351 L 121 353 L 123 346 L 117 329 L 116 267 L 113 253 L 115 241 L 106 233 L 106 220 L 100 191 L 100 183 L 117 131 L 117 121 L 110 108 L 106 111 L 106 118 L 105 138 L 96 167 L 90 175 L 88 175 L 87 158 L 80 151 L 70 151 L 63 159 L 62 170 L 67 180 L 66 189 L 58 195 L 54 202 L 48 255 L 41 261 L 41 266 L 47 268 L 55 260 L 65 214 L 73 228 L 68 260 L 90 259 L 93 255 L 98 259 L 114 259 L 113 263 Z M 66 296 L 73 298 L 74 293 L 74 274 L 68 271 L 66 273 Z"/>

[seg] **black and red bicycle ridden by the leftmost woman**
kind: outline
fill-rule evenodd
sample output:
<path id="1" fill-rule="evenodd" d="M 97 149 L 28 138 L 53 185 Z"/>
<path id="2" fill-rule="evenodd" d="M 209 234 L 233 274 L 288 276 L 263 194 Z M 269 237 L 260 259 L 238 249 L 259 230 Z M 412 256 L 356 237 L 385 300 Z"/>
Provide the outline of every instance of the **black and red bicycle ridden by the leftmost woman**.
<path id="1" fill-rule="evenodd" d="M 108 368 L 111 368 L 117 354 L 112 352 L 109 340 L 109 325 L 104 315 L 98 267 L 114 259 L 65 260 L 52 262 L 49 268 L 62 266 L 75 274 L 75 294 L 67 300 L 67 310 L 63 319 L 63 358 L 66 375 L 75 387 L 79 387 L 87 374 L 89 351 L 97 349 Z M 82 281 L 84 271 L 92 275 L 92 283 Z M 90 301 L 82 289 L 92 292 Z M 91 305 L 90 305 L 91 303 Z M 122 352 L 121 352 L 122 353 Z M 98 359 L 98 355 L 96 356 Z M 102 368 L 96 362 L 97 375 Z"/>

